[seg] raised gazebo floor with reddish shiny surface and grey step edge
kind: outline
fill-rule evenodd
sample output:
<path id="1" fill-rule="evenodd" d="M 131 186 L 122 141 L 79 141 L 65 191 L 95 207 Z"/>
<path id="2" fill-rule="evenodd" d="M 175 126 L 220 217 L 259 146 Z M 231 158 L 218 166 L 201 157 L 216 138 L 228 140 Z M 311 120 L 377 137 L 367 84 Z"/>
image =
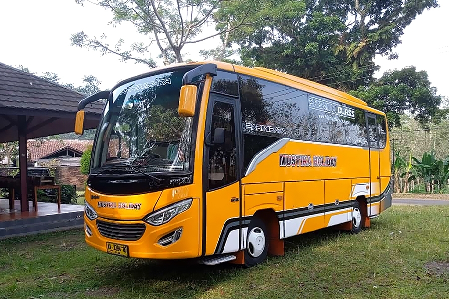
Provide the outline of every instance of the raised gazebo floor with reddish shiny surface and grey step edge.
<path id="1" fill-rule="evenodd" d="M 7 199 L 0 199 L 0 239 L 83 227 L 84 206 L 38 202 L 38 211 L 29 202 L 29 212 L 20 211 L 20 201 L 14 203 L 16 210 L 9 210 Z"/>

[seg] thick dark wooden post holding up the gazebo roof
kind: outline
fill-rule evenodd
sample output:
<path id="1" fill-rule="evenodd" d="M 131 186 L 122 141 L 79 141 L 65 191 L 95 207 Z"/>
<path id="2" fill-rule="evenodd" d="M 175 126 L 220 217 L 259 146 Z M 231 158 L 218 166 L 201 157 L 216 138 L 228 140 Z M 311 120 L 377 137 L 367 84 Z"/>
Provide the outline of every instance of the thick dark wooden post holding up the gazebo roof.
<path id="1" fill-rule="evenodd" d="M 19 166 L 20 166 L 20 210 L 29 211 L 28 205 L 28 157 L 26 154 L 26 116 L 17 116 L 19 138 Z"/>

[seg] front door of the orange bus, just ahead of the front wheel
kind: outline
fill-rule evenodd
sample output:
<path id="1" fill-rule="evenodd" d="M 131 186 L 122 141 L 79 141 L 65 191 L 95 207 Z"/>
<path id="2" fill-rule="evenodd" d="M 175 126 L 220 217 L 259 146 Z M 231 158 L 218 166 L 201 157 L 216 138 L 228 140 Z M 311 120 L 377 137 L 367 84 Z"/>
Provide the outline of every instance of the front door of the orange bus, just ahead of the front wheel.
<path id="1" fill-rule="evenodd" d="M 240 146 L 236 134 L 240 130 L 236 120 L 241 117 L 235 103 L 224 95 L 211 93 L 209 97 L 203 154 L 206 221 L 202 254 L 206 255 L 236 252 L 241 245 Z"/>

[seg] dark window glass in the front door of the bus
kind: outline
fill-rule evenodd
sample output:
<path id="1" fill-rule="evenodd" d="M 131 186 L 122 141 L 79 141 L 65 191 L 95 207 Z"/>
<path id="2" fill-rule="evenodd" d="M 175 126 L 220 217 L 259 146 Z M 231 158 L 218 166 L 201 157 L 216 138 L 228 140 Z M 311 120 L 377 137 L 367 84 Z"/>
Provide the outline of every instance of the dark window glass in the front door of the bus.
<path id="1" fill-rule="evenodd" d="M 215 128 L 225 129 L 225 143 L 209 147 L 209 190 L 237 180 L 237 148 L 234 106 L 232 104 L 214 102 L 210 131 L 211 141 L 214 141 Z"/>

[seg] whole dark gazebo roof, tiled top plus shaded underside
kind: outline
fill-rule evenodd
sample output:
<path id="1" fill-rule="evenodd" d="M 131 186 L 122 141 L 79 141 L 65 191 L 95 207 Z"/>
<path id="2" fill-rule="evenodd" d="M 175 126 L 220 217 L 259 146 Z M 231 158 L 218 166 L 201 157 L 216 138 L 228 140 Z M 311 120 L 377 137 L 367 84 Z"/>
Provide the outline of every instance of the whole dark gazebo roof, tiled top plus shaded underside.
<path id="1" fill-rule="evenodd" d="M 73 132 L 77 91 L 0 63 L 0 143 L 18 140 L 17 116 L 26 116 L 27 138 Z M 104 103 L 85 109 L 84 129 L 96 128 Z"/>

